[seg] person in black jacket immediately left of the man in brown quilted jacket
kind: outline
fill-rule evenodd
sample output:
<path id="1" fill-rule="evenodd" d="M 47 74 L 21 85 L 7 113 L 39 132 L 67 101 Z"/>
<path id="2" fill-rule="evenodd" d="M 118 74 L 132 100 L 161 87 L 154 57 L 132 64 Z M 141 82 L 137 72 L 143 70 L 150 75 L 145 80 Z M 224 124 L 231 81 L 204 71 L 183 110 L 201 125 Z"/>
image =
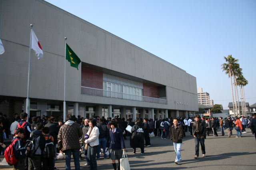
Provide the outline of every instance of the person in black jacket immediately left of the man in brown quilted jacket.
<path id="1" fill-rule="evenodd" d="M 54 117 L 50 117 L 48 119 L 48 123 L 44 127 L 50 128 L 49 135 L 51 135 L 53 137 L 53 140 L 54 140 L 54 142 L 53 142 L 53 144 L 54 144 L 54 151 L 56 153 L 56 144 L 58 144 L 57 135 L 59 133 L 59 128 L 55 124 L 55 118 Z M 55 156 L 54 156 L 54 159 L 53 159 L 53 166 L 55 166 Z M 56 169 L 56 168 L 54 168 L 54 169 Z"/>

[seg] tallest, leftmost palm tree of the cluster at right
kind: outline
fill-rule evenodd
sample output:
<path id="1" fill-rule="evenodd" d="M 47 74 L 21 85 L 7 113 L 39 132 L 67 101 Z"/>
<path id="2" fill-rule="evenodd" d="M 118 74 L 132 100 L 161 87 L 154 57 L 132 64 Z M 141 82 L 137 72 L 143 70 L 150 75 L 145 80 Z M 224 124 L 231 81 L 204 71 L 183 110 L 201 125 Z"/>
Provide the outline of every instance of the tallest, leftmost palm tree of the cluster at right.
<path id="1" fill-rule="evenodd" d="M 231 94 L 232 94 L 232 103 L 233 103 L 233 108 L 234 106 L 234 95 L 233 95 L 233 84 L 232 84 L 232 68 L 235 63 L 237 63 L 238 59 L 234 59 L 232 55 L 228 55 L 228 57 L 224 57 L 225 61 L 227 63 L 223 63 L 222 66 L 222 71 L 225 71 L 226 74 L 228 74 L 228 77 L 230 77 L 230 83 L 231 83 Z M 237 109 L 234 109 L 234 114 L 237 116 Z"/>

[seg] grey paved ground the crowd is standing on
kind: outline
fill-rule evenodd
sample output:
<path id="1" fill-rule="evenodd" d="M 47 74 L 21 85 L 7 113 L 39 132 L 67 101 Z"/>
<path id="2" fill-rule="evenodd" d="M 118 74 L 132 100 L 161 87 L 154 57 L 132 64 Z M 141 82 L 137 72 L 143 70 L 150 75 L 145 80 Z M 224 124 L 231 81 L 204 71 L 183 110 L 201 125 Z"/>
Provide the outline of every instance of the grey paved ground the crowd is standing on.
<path id="1" fill-rule="evenodd" d="M 220 129 L 218 137 L 207 136 L 205 140 L 206 157 L 202 158 L 200 149 L 200 158 L 194 159 L 195 143 L 190 133 L 186 133 L 182 143 L 182 162 L 178 165 L 174 163 L 175 152 L 171 140 L 164 140 L 160 137 L 150 138 L 151 146 L 145 148 L 145 154 L 132 154 L 132 148 L 129 146 L 129 139 L 125 140 L 126 152 L 128 154 L 131 169 L 136 170 L 182 170 L 190 168 L 191 170 L 256 170 L 256 140 L 254 135 L 247 130 L 242 134 L 242 138 L 236 138 L 233 134 L 231 138 L 221 136 Z M 233 130 L 233 133 L 236 130 Z M 140 153 L 140 149 L 137 149 Z M 2 156 L 1 156 L 2 157 Z M 83 166 L 85 161 L 80 161 L 82 170 L 89 170 Z M 109 159 L 97 160 L 98 170 L 112 170 L 112 162 Z M 56 160 L 56 167 L 65 170 L 65 160 Z M 74 162 L 71 164 L 74 169 Z"/>

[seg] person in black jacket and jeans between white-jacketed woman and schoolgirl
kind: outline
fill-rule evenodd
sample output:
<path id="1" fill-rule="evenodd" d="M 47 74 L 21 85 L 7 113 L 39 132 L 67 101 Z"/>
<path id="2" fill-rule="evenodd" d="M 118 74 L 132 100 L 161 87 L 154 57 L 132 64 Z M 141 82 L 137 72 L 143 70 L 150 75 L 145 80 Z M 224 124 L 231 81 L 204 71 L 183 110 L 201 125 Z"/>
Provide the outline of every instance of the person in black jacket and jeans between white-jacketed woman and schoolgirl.
<path id="1" fill-rule="evenodd" d="M 97 124 L 97 127 L 99 129 L 99 145 L 98 145 L 98 151 L 97 151 L 97 159 L 100 159 L 100 146 L 102 145 L 102 149 L 103 149 L 103 154 L 104 154 L 104 159 L 107 158 L 107 155 L 105 154 L 105 150 L 106 150 L 106 137 L 108 137 L 108 126 L 103 123 L 104 121 L 106 121 L 106 119 L 100 118 L 100 123 Z"/>

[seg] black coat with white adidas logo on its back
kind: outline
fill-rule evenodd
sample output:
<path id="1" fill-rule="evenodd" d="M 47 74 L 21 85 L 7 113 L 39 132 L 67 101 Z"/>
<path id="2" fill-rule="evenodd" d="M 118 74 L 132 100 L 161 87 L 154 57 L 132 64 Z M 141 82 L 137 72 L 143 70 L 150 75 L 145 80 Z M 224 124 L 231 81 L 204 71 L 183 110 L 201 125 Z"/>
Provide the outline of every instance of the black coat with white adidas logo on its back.
<path id="1" fill-rule="evenodd" d="M 144 148 L 144 126 L 134 125 L 132 127 L 132 148 Z"/>

